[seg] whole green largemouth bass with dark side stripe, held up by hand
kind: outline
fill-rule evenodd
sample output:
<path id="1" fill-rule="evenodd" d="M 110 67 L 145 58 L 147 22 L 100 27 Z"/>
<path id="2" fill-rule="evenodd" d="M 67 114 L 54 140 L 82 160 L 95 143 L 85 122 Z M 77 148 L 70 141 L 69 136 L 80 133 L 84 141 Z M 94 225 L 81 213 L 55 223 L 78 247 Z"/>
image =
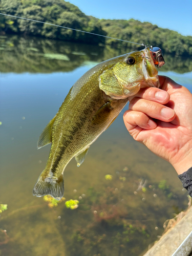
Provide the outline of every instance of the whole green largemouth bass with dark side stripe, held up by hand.
<path id="1" fill-rule="evenodd" d="M 50 195 L 60 200 L 63 172 L 70 160 L 75 157 L 77 166 L 82 164 L 90 145 L 113 123 L 130 96 L 140 88 L 159 88 L 158 61 L 152 53 L 145 47 L 105 60 L 74 83 L 39 137 L 37 148 L 51 143 L 51 150 L 34 186 L 34 196 Z"/>

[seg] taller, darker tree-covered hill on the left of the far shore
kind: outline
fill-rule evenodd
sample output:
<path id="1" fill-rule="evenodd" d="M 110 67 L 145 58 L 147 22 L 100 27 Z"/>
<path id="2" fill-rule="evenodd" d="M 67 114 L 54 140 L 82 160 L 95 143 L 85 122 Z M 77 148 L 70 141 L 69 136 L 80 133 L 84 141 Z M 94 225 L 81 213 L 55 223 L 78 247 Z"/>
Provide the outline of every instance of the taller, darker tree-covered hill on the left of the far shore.
<path id="1" fill-rule="evenodd" d="M 63 0 L 1 0 L 0 11 L 14 16 L 27 17 L 59 26 L 86 30 L 97 34 L 106 34 L 99 24 L 99 20 L 90 18 L 75 5 Z M 25 35 L 43 36 L 54 39 L 72 40 L 99 44 L 103 37 L 82 32 L 62 29 L 55 26 L 31 22 L 25 19 L 0 16 L 0 30 L 5 33 L 22 33 Z"/>

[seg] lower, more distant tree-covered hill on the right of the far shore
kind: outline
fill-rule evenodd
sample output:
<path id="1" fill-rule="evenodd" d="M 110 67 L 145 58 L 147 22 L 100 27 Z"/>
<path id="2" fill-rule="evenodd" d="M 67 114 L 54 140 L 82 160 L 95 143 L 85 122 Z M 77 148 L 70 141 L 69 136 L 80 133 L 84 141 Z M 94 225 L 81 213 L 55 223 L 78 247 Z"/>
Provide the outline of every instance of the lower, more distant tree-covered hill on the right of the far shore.
<path id="1" fill-rule="evenodd" d="M 102 29 L 108 36 L 150 44 L 162 48 L 166 53 L 176 55 L 192 55 L 192 36 L 183 36 L 176 31 L 159 28 L 148 22 L 139 22 L 135 19 L 130 20 L 100 20 Z M 119 42 L 114 39 L 106 39 L 106 44 L 114 47 L 130 47 L 127 42 Z M 133 47 L 133 46 L 132 46 Z M 134 46 L 138 47 L 139 46 Z"/>

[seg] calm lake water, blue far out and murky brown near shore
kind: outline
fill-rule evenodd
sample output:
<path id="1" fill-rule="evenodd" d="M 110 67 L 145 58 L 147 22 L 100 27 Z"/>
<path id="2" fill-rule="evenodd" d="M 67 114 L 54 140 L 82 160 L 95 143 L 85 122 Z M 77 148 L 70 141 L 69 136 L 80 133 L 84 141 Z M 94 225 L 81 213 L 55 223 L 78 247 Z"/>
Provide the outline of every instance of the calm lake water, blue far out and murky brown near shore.
<path id="1" fill-rule="evenodd" d="M 37 150 L 42 130 L 79 77 L 122 53 L 18 36 L 0 37 L 0 51 L 0 204 L 8 205 L 0 218 L 0 255 L 143 255 L 188 200 L 174 168 L 126 131 L 122 115 L 128 106 L 83 164 L 77 167 L 73 159 L 65 169 L 64 197 L 78 200 L 77 209 L 67 208 L 65 200 L 50 207 L 32 195 L 50 150 Z M 167 60 L 159 74 L 192 92 L 190 60 Z"/>

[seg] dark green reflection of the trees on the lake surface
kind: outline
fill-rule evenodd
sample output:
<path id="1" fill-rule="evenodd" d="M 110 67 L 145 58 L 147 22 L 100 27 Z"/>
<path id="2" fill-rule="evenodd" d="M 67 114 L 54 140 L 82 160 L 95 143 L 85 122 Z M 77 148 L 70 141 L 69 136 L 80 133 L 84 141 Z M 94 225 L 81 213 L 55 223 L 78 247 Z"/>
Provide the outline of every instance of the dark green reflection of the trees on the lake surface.
<path id="1" fill-rule="evenodd" d="M 92 46 L 73 42 L 23 36 L 0 36 L 0 71 L 51 73 L 69 72 L 81 65 L 96 63 L 124 54 L 109 46 Z M 131 50 L 127 49 L 127 52 Z M 166 65 L 161 71 L 192 71 L 191 58 L 171 56 L 164 50 Z"/>

